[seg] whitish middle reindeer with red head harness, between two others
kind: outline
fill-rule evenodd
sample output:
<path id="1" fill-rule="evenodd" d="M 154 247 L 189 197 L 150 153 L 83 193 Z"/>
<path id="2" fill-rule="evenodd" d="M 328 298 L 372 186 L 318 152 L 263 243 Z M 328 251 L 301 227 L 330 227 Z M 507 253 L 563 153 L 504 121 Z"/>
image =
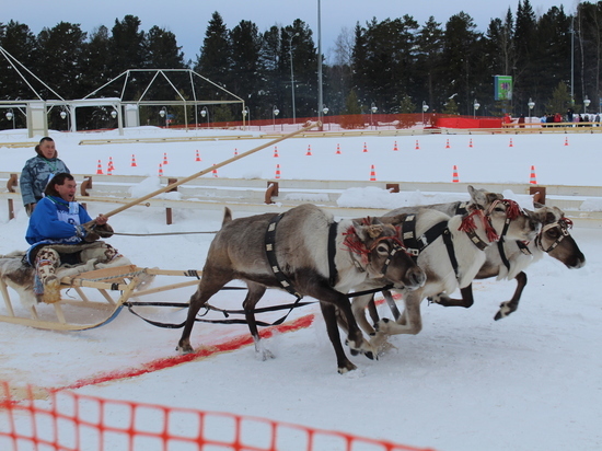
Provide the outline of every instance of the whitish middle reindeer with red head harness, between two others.
<path id="1" fill-rule="evenodd" d="M 468 213 L 464 216 L 450 216 L 437 209 L 417 207 L 412 213 L 397 209 L 380 218 L 383 222 L 402 226 L 402 239 L 406 246 L 413 247 L 408 239 L 415 236 L 414 242 L 418 243 L 415 250 L 417 263 L 427 274 L 427 282 L 404 294 L 405 311 L 396 322 L 378 320 L 378 334 L 364 314 L 371 296 L 354 299 L 352 311 L 358 324 L 367 333 L 375 334 L 371 342 L 374 347 L 384 342 L 385 335 L 418 334 L 422 327 L 422 299 L 468 286 L 485 263 L 484 251 L 501 235 L 509 240 L 530 241 L 539 232 L 541 218 L 537 215 L 521 212 L 516 203 L 503 200 L 499 194 L 475 189 L 473 186 L 468 186 L 468 193 L 471 203 L 467 206 Z M 408 219 L 415 220 L 415 227 L 404 233 L 403 223 L 408 222 Z"/>

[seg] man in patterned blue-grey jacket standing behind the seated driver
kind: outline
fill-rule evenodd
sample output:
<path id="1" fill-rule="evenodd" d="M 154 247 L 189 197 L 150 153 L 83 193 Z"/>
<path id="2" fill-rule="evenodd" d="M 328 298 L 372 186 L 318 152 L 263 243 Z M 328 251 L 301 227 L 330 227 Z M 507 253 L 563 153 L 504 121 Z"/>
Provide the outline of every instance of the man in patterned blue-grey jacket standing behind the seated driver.
<path id="1" fill-rule="evenodd" d="M 70 173 L 69 167 L 59 160 L 53 138 L 42 138 L 35 151 L 37 155 L 25 162 L 19 180 L 27 216 L 32 216 L 36 204 L 44 197 L 44 189 L 50 178 L 61 172 Z"/>

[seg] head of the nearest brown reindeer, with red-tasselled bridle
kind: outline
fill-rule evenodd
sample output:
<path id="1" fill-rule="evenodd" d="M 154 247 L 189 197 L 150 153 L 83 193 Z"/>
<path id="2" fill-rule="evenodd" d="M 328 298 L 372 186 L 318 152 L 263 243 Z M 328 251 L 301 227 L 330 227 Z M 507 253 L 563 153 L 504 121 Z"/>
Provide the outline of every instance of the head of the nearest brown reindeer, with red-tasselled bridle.
<path id="1" fill-rule="evenodd" d="M 406 254 L 397 228 L 377 218 L 366 218 L 354 220 L 350 229 L 345 244 L 361 256 L 370 278 L 384 278 L 395 288 L 416 289 L 425 285 L 426 274 Z"/>

